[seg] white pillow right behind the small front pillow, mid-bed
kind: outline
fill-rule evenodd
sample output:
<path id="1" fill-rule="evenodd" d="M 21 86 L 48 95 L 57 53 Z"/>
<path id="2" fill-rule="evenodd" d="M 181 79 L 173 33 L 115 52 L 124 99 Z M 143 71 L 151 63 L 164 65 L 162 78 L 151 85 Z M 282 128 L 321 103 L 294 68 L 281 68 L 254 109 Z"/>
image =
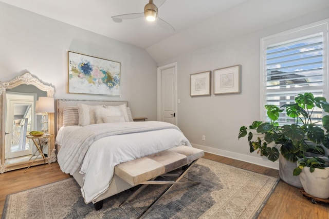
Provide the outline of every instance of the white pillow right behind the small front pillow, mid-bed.
<path id="1" fill-rule="evenodd" d="M 129 122 L 126 107 L 124 104 L 120 106 L 105 106 L 104 108 L 98 108 L 95 110 L 96 123 L 104 123 L 105 117 L 117 117 L 122 116 L 124 121 Z"/>

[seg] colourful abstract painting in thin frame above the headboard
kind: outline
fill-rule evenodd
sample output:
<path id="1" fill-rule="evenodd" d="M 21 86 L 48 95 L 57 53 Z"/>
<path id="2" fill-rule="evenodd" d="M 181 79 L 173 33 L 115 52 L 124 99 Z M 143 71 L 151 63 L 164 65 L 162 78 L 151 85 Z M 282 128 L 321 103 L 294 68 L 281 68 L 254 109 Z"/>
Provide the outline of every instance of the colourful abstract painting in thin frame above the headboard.
<path id="1" fill-rule="evenodd" d="M 68 51 L 68 93 L 121 95 L 121 63 Z"/>

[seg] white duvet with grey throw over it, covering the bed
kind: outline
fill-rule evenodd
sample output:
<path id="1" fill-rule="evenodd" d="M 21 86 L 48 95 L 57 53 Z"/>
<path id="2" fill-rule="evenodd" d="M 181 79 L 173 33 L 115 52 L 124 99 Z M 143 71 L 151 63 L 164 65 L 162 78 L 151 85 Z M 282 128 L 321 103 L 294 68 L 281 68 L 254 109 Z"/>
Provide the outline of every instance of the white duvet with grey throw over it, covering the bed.
<path id="1" fill-rule="evenodd" d="M 84 134 L 86 130 L 93 133 Z M 86 203 L 108 189 L 117 164 L 172 147 L 191 146 L 178 127 L 154 121 L 62 127 L 56 142 L 61 146 L 61 170 L 84 174 L 81 192 Z"/>

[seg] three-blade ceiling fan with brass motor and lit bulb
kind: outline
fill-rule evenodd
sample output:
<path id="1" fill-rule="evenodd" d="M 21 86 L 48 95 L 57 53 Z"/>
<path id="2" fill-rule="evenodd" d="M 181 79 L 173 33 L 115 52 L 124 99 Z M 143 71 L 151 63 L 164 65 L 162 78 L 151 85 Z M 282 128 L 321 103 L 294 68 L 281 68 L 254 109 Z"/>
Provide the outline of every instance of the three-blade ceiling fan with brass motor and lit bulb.
<path id="1" fill-rule="evenodd" d="M 158 7 L 160 7 L 161 5 L 163 5 L 163 3 L 166 2 L 166 0 L 158 0 L 156 2 L 158 2 Z M 121 14 L 117 16 L 112 16 L 112 19 L 114 22 L 121 23 L 123 19 L 134 19 L 145 16 L 145 18 L 150 22 L 156 21 L 156 23 L 161 28 L 166 29 L 170 32 L 175 32 L 175 28 L 173 26 L 158 17 L 158 7 L 153 4 L 153 0 L 150 0 L 149 4 L 145 5 L 143 13 Z"/>

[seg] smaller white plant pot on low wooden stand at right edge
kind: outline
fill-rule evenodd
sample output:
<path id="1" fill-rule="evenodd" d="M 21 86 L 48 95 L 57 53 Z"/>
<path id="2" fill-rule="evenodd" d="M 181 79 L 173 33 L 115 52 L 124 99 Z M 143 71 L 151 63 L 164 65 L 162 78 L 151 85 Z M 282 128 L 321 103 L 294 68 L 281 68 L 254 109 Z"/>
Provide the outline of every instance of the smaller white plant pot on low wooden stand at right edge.
<path id="1" fill-rule="evenodd" d="M 313 173 L 309 172 L 309 167 L 304 167 L 299 178 L 305 192 L 314 197 L 329 198 L 329 167 L 315 168 Z"/>

